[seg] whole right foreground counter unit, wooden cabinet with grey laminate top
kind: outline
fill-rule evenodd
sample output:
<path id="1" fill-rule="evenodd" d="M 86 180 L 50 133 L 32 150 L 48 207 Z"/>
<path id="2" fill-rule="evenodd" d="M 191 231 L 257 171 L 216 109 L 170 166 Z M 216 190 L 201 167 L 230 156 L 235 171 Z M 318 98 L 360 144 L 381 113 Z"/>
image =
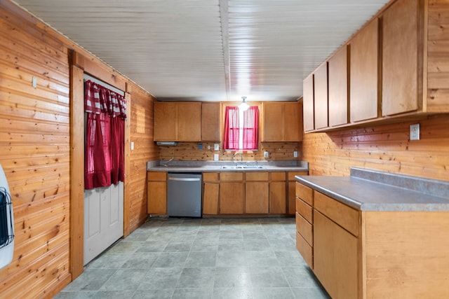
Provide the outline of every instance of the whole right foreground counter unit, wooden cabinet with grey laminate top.
<path id="1" fill-rule="evenodd" d="M 295 176 L 296 246 L 332 298 L 446 298 L 449 182 Z"/>

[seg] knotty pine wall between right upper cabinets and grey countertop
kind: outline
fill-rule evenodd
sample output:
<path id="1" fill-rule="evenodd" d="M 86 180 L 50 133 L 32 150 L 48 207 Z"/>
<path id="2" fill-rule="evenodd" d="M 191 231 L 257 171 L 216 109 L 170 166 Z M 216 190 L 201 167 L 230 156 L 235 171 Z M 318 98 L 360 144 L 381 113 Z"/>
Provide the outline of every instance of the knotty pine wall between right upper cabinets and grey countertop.
<path id="1" fill-rule="evenodd" d="M 421 138 L 410 141 L 410 124 Z M 329 133 L 304 134 L 310 175 L 348 176 L 350 167 L 449 181 L 449 116 Z"/>

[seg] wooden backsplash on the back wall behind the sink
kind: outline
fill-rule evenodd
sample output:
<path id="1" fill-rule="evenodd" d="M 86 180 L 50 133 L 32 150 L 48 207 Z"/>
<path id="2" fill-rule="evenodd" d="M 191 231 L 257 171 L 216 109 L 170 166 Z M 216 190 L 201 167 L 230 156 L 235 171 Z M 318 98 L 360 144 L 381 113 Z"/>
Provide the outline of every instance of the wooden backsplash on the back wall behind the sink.
<path id="1" fill-rule="evenodd" d="M 202 149 L 199 149 L 201 144 Z M 232 161 L 234 151 L 223 151 L 220 144 L 220 151 L 213 150 L 213 142 L 180 142 L 177 146 L 159 146 L 159 159 L 168 160 L 174 157 L 174 160 L 182 161 L 208 161 L 213 160 L 215 153 L 219 154 L 220 161 Z M 301 160 L 300 142 L 263 142 L 258 151 L 245 151 L 242 153 L 243 160 Z M 264 158 L 264 151 L 269 152 L 269 158 Z M 298 151 L 298 157 L 293 157 L 293 152 Z M 238 157 L 239 158 L 239 157 Z"/>

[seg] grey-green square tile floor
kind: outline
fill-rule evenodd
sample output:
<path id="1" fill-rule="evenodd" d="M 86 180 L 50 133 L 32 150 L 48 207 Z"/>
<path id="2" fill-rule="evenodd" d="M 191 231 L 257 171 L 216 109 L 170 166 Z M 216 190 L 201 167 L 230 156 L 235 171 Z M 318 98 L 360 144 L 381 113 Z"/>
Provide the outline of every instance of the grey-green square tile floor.
<path id="1" fill-rule="evenodd" d="M 55 298 L 330 298 L 295 218 L 149 218 Z"/>

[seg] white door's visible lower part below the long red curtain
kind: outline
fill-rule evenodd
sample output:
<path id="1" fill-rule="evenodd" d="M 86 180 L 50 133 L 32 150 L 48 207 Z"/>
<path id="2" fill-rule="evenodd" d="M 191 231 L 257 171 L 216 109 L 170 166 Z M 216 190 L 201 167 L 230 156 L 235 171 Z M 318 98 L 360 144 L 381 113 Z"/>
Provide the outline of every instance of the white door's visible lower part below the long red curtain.
<path id="1" fill-rule="evenodd" d="M 84 265 L 123 236 L 123 182 L 84 190 Z"/>

